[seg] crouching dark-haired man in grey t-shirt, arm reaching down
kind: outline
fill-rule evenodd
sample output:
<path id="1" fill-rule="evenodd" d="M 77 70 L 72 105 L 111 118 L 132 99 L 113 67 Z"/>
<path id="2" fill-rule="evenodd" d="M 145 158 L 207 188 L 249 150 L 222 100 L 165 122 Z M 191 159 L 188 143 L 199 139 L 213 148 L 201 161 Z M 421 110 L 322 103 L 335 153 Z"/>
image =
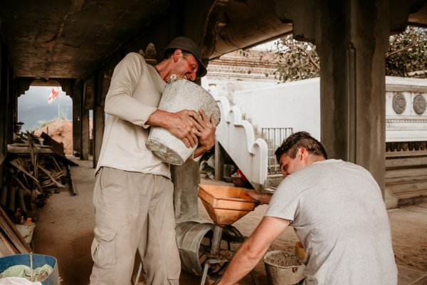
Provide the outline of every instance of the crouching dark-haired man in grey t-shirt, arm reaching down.
<path id="1" fill-rule="evenodd" d="M 275 155 L 285 179 L 273 196 L 247 192 L 269 206 L 217 284 L 235 284 L 248 274 L 290 225 L 306 252 L 299 284 L 396 285 L 389 218 L 371 174 L 327 160 L 324 147 L 305 132 L 290 135 Z"/>

